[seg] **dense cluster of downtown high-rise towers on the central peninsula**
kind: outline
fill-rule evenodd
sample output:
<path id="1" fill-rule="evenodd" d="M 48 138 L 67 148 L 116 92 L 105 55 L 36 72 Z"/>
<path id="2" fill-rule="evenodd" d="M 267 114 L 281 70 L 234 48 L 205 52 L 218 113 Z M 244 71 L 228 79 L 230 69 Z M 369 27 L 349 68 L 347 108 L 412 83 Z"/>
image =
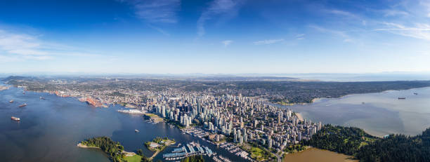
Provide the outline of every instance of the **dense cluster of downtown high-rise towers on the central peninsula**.
<path id="1" fill-rule="evenodd" d="M 185 128 L 202 126 L 210 134 L 223 135 L 216 137 L 233 138 L 236 144 L 254 142 L 278 151 L 308 140 L 322 127 L 320 122 L 299 119 L 291 109 L 242 95 L 161 95 L 152 100 L 156 103 L 143 109 Z"/>

